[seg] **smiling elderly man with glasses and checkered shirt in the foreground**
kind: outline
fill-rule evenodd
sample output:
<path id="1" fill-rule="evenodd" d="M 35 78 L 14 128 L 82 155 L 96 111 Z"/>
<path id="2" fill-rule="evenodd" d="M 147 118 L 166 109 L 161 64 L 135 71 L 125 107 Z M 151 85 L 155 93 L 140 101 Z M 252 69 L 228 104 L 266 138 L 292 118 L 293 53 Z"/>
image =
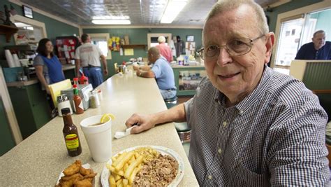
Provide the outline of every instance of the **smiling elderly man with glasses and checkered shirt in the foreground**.
<path id="1" fill-rule="evenodd" d="M 168 111 L 133 114 L 139 133 L 187 121 L 189 160 L 200 186 L 326 186 L 327 114 L 304 84 L 267 67 L 274 34 L 253 1 L 219 1 L 200 51 L 207 77 Z"/>

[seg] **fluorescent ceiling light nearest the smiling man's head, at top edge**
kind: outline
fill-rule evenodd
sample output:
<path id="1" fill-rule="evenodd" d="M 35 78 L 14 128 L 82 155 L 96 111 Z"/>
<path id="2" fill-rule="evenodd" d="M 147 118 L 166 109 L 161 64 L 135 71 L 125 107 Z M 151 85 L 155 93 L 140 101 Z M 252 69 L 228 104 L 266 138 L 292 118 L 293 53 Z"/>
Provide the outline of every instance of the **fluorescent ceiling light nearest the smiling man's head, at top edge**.
<path id="1" fill-rule="evenodd" d="M 184 6 L 186 6 L 187 1 L 188 0 L 170 0 L 161 18 L 161 23 L 172 23 Z"/>

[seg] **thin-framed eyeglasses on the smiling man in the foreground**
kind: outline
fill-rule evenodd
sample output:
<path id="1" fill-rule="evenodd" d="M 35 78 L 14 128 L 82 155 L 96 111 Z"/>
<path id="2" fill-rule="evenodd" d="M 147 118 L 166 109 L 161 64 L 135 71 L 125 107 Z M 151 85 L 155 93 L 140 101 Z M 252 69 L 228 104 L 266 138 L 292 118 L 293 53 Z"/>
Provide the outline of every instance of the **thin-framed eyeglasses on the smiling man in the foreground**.
<path id="1" fill-rule="evenodd" d="M 219 57 L 219 50 L 221 48 L 225 48 L 231 56 L 245 55 L 249 53 L 249 51 L 251 51 L 251 46 L 253 45 L 253 42 L 262 38 L 263 36 L 265 36 L 265 34 L 263 34 L 262 36 L 258 36 L 255 39 L 233 39 L 230 42 L 226 43 L 225 46 L 208 46 L 207 48 L 200 48 L 198 50 L 198 53 L 203 60 L 205 60 L 206 58 Z"/>

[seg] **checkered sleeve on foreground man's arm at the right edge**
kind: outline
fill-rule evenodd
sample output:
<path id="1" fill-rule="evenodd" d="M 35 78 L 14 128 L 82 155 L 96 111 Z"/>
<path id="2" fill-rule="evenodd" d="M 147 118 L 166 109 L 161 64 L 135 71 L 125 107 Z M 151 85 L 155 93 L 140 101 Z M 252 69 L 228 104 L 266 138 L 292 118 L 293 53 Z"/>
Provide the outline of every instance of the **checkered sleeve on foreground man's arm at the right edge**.
<path id="1" fill-rule="evenodd" d="M 321 106 L 312 103 L 307 102 L 293 118 L 268 132 L 273 139 L 267 153 L 271 186 L 327 186 L 330 180 L 327 116 Z"/>

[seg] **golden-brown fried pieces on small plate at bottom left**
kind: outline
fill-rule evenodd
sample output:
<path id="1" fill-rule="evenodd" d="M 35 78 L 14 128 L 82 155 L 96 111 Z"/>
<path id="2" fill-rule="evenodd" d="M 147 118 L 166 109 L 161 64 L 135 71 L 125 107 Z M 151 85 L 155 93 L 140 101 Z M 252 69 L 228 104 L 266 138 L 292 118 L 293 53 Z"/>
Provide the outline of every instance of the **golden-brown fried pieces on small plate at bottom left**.
<path id="1" fill-rule="evenodd" d="M 64 169 L 64 176 L 61 177 L 57 186 L 63 187 L 88 187 L 92 186 L 92 181 L 96 173 L 92 169 L 82 167 L 82 162 L 76 160 L 72 165 Z"/>

